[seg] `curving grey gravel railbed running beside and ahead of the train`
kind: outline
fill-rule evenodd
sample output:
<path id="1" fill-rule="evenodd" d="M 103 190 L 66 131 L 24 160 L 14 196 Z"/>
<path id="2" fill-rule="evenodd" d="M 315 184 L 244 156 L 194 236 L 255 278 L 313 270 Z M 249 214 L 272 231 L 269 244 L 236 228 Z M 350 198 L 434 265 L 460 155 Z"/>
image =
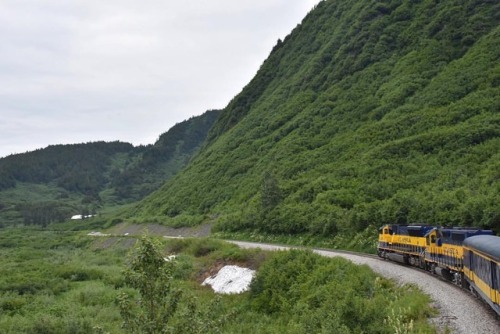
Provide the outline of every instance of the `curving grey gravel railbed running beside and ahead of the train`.
<path id="1" fill-rule="evenodd" d="M 261 248 L 265 250 L 286 250 L 288 247 L 269 244 L 230 241 L 242 248 Z M 484 303 L 460 288 L 443 282 L 432 275 L 391 263 L 382 259 L 367 258 L 335 251 L 314 250 L 327 256 L 344 257 L 356 264 L 366 264 L 378 274 L 396 280 L 398 283 L 412 283 L 431 296 L 439 315 L 434 323 L 444 332 L 448 327 L 454 334 L 498 334 L 500 321 Z"/>

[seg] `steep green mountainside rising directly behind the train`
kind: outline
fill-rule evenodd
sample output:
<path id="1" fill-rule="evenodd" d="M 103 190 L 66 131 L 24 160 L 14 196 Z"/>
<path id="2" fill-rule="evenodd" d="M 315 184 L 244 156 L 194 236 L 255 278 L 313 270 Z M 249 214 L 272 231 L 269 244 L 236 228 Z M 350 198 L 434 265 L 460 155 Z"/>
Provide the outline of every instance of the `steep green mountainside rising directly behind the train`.
<path id="1" fill-rule="evenodd" d="M 322 1 L 128 214 L 226 231 L 500 229 L 500 3 Z"/>

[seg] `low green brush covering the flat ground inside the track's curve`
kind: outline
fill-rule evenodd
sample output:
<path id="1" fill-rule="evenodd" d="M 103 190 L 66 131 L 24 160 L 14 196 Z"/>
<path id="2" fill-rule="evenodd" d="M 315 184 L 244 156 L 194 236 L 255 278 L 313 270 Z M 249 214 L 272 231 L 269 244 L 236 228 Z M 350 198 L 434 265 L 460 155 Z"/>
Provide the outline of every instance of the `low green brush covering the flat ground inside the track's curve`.
<path id="1" fill-rule="evenodd" d="M 135 283 L 148 280 L 134 274 L 151 269 L 141 254 L 167 266 L 163 287 L 168 303 L 175 302 L 167 332 L 389 334 L 411 326 L 407 333 L 434 333 L 426 322 L 429 300 L 416 288 L 397 287 L 342 259 L 247 251 L 214 239 L 146 238 L 131 248 L 133 238 L 87 231 L 1 231 L 0 332 L 6 334 L 148 332 L 133 321 L 141 313 L 120 312 L 142 294 Z M 176 260 L 166 263 L 163 256 L 172 253 Z M 225 263 L 258 269 L 249 292 L 216 296 L 200 286 Z"/>

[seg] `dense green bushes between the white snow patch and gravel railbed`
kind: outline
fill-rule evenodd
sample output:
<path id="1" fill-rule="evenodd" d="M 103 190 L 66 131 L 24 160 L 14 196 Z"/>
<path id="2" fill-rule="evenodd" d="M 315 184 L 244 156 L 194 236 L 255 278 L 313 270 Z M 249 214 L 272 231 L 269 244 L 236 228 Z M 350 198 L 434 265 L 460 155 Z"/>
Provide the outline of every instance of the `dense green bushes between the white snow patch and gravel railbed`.
<path id="1" fill-rule="evenodd" d="M 411 303 L 403 304 L 410 299 Z M 396 288 L 367 266 L 301 250 L 272 255 L 250 290 L 256 312 L 281 319 L 286 330 L 311 333 L 394 333 L 394 323 L 388 326 L 384 319 L 401 307 L 406 309 L 398 318 L 398 328 L 411 324 L 429 333 L 428 302 L 414 287 Z"/>

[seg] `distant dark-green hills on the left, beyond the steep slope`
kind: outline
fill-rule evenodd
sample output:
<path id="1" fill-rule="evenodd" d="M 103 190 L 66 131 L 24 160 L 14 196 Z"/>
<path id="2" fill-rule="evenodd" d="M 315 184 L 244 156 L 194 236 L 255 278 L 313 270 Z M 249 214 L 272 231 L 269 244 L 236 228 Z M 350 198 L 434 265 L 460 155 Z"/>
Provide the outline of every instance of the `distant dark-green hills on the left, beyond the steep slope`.
<path id="1" fill-rule="evenodd" d="M 0 159 L 0 223 L 41 224 L 141 199 L 183 168 L 219 111 L 178 123 L 153 145 L 53 145 Z"/>

